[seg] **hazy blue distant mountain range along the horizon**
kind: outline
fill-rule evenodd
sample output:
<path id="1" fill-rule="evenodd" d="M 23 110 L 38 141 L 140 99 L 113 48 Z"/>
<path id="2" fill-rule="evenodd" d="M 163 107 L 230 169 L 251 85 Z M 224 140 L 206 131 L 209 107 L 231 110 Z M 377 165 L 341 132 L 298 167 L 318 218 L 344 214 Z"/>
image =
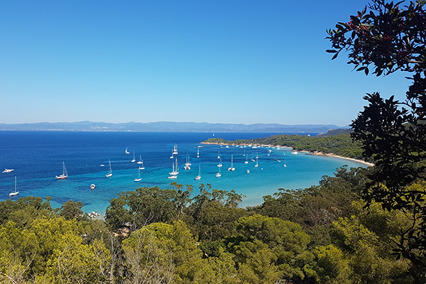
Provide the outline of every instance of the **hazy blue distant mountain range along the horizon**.
<path id="1" fill-rule="evenodd" d="M 38 122 L 34 124 L 0 124 L 0 131 L 137 131 L 137 132 L 268 132 L 325 133 L 330 129 L 346 129 L 332 124 L 210 124 L 207 122 Z"/>

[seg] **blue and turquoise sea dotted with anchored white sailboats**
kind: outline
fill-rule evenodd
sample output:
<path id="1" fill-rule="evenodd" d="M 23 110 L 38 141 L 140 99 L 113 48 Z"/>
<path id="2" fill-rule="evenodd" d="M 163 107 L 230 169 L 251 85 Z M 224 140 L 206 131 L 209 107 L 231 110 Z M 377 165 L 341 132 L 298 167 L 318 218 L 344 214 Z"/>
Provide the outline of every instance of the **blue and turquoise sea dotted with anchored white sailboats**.
<path id="1" fill-rule="evenodd" d="M 280 188 L 317 185 L 323 175 L 333 175 L 342 165 L 366 167 L 342 158 L 294 154 L 290 148 L 201 144 L 212 137 L 236 140 L 275 134 L 0 131 L 0 172 L 4 168 L 14 169 L 11 173 L 0 173 L 0 200 L 51 197 L 53 207 L 74 200 L 84 204 L 84 212 L 104 214 L 109 201 L 120 192 L 138 187 L 172 188 L 170 183 L 177 182 L 192 185 L 193 195 L 200 192 L 202 183 L 214 189 L 235 190 L 244 195 L 240 206 L 247 207 L 261 204 L 263 196 L 273 195 Z M 175 146 L 178 154 L 171 158 Z M 140 170 L 140 182 L 134 181 L 140 164 L 131 163 L 133 153 L 136 162 L 143 160 L 145 168 Z M 187 158 L 190 170 L 184 170 Z M 221 160 L 222 175 L 217 178 Z M 113 175 L 107 178 L 109 161 Z M 171 180 L 169 173 L 176 161 L 178 178 Z M 232 171 L 228 170 L 231 162 L 235 168 Z M 55 176 L 62 174 L 63 163 L 68 178 L 57 180 Z M 195 180 L 199 172 L 202 178 Z M 15 176 L 19 194 L 9 197 L 15 187 Z M 90 188 L 92 184 L 94 190 Z"/>

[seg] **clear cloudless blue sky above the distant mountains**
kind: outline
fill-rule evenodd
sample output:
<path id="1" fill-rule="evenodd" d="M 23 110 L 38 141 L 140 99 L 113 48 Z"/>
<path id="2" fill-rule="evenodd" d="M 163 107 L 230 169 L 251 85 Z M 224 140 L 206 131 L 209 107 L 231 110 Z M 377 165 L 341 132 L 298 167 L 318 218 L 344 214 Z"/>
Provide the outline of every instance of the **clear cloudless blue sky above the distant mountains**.
<path id="1" fill-rule="evenodd" d="M 0 123 L 336 124 L 404 74 L 331 60 L 368 1 L 1 1 Z"/>

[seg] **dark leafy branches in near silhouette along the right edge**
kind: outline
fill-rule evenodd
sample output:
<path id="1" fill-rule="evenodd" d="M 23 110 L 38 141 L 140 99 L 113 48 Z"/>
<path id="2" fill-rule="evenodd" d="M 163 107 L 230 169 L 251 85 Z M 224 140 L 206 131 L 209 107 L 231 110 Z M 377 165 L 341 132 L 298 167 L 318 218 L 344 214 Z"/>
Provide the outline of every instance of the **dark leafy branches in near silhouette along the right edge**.
<path id="1" fill-rule="evenodd" d="M 412 217 L 400 232 L 400 256 L 426 269 L 426 12 L 425 1 L 373 0 L 362 11 L 328 31 L 333 58 L 346 52 L 348 63 L 368 75 L 405 72 L 411 81 L 405 100 L 366 94 L 368 106 L 352 122 L 351 136 L 376 163 L 363 190 L 370 204 L 380 202 Z"/>

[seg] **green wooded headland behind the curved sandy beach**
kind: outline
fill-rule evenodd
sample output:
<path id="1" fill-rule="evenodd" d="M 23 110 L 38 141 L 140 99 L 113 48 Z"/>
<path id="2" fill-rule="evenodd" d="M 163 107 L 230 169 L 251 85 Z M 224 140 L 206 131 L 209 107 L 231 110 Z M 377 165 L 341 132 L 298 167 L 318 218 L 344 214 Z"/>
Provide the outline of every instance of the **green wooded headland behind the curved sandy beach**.
<path id="1" fill-rule="evenodd" d="M 361 143 L 354 142 L 350 133 L 341 133 L 333 136 L 306 136 L 306 135 L 274 135 L 265 138 L 241 139 L 226 141 L 222 138 L 209 138 L 204 143 L 229 145 L 271 145 L 294 148 L 297 151 L 333 153 L 347 158 L 364 159 Z"/>

